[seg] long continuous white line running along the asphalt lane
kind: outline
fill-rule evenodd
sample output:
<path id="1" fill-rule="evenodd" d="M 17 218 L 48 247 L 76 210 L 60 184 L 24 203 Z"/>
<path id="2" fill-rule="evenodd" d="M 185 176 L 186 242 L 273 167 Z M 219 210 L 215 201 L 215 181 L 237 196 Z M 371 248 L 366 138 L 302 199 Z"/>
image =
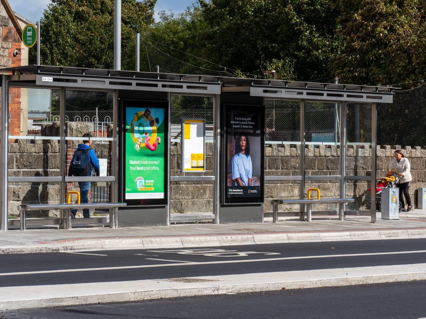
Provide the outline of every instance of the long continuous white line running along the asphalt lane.
<path id="1" fill-rule="evenodd" d="M 265 259 L 246 259 L 246 260 L 221 260 L 216 262 L 187 262 L 179 264 L 160 264 L 160 265 L 137 265 L 137 266 L 121 266 L 121 267 L 100 267 L 100 268 L 83 268 L 83 269 L 59 269 L 46 271 L 21 271 L 15 273 L 0 273 L 0 276 L 12 275 L 29 275 L 36 273 L 69 273 L 74 271 L 96 271 L 96 270 L 117 270 L 117 269 L 136 269 L 136 268 L 155 268 L 155 267 L 171 267 L 171 266 L 188 266 L 188 265 L 213 265 L 213 264 L 230 264 L 240 262 L 268 262 L 274 260 L 292 260 L 292 259 L 314 259 L 314 258 L 333 258 L 333 257 L 351 257 L 351 256 L 379 256 L 379 255 L 396 255 L 406 253 L 426 253 L 424 251 L 394 251 L 386 253 L 350 253 L 341 255 L 320 255 L 320 256 L 296 256 L 296 257 L 281 257 L 281 258 L 265 258 Z"/>

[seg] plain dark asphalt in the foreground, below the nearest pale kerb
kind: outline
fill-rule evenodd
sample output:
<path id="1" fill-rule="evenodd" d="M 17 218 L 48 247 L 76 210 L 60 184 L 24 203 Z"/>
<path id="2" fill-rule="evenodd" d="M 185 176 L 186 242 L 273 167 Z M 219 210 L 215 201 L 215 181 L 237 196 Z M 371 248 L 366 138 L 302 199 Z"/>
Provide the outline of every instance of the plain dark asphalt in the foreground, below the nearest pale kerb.
<path id="1" fill-rule="evenodd" d="M 425 281 L 26 309 L 1 319 L 422 318 Z"/>

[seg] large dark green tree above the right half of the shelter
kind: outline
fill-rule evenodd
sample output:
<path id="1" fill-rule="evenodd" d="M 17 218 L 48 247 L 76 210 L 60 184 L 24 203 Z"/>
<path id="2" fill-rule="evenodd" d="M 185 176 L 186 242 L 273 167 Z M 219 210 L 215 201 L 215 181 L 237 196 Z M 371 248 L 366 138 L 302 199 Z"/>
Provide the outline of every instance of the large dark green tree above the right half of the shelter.
<path id="1" fill-rule="evenodd" d="M 200 0 L 210 59 L 261 74 L 275 69 L 283 80 L 329 76 L 334 26 L 332 0 Z"/>

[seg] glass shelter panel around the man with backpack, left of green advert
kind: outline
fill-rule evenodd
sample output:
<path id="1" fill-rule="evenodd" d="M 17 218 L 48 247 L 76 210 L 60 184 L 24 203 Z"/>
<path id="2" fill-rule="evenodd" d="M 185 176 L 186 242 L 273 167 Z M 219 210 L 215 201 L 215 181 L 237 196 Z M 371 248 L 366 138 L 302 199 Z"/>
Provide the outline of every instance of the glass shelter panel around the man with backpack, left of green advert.
<path id="1" fill-rule="evenodd" d="M 80 91 L 66 90 L 66 176 L 69 175 L 69 165 L 72 156 L 85 140 L 91 140 L 91 148 L 95 151 L 99 162 L 99 173 L 93 169 L 92 174 L 100 177 L 111 177 L 112 149 L 113 149 L 113 99 L 114 93 L 107 91 Z M 55 114 L 56 115 L 56 114 Z M 83 134 L 91 134 L 92 137 L 83 139 Z M 80 148 L 87 148 L 81 146 Z M 69 179 L 69 178 L 68 178 Z M 111 181 L 93 181 L 88 176 L 85 182 L 67 182 L 66 193 L 69 191 L 81 192 L 81 203 L 87 199 L 89 203 L 111 202 Z M 73 195 L 74 196 L 74 195 Z M 76 197 L 72 198 L 72 202 Z M 89 210 L 90 216 L 108 216 L 108 209 Z M 83 217 L 83 211 L 78 210 L 76 220 Z M 93 219 L 91 222 L 106 222 L 107 219 Z"/>

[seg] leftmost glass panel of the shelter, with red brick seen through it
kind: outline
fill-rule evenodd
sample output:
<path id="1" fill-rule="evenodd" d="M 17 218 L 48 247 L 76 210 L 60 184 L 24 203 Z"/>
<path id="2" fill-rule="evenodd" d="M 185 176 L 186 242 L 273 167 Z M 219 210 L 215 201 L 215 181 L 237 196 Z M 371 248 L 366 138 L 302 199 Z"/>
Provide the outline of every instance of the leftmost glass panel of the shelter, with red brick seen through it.
<path id="1" fill-rule="evenodd" d="M 51 117 L 59 92 L 9 87 L 9 229 L 19 229 L 17 205 L 59 201 L 59 117 Z M 60 217 L 60 212 L 30 211 L 26 217 Z"/>

